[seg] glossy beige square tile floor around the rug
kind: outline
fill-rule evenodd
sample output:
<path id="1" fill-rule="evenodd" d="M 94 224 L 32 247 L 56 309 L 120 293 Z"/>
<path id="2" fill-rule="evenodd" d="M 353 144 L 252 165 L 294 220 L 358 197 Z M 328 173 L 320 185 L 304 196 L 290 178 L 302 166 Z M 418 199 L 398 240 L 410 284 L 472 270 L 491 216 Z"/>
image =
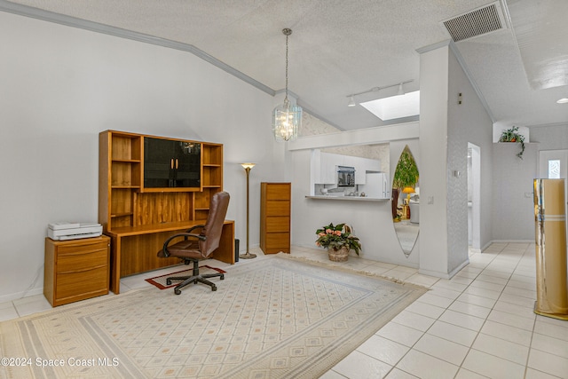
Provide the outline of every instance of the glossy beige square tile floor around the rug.
<path id="1" fill-rule="evenodd" d="M 263 259 L 262 251 L 251 249 Z M 327 260 L 322 249 L 292 255 Z M 252 260 L 242 260 L 246 265 Z M 227 268 L 213 261 L 210 265 Z M 568 321 L 534 314 L 534 244 L 493 243 L 473 253 L 452 280 L 417 270 L 350 257 L 354 269 L 430 288 L 356 351 L 323 375 L 340 378 L 568 378 Z M 149 286 L 144 279 L 170 267 L 121 280 L 121 292 Z M 108 296 L 114 296 L 110 294 Z M 65 305 L 63 305 L 65 306 Z M 51 309 L 41 295 L 0 304 L 0 320 Z"/>

